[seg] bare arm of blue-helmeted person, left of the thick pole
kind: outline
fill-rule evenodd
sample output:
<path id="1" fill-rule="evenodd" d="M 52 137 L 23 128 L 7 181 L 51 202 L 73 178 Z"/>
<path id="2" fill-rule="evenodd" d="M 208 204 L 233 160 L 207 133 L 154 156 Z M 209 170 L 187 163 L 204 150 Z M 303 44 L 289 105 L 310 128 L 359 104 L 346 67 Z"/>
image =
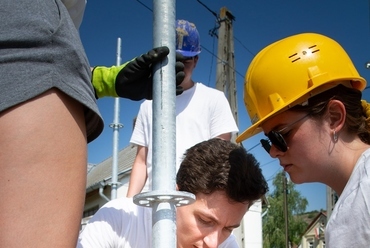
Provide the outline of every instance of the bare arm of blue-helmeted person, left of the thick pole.
<path id="1" fill-rule="evenodd" d="M 133 197 L 140 193 L 144 188 L 148 177 L 146 170 L 146 156 L 148 148 L 145 146 L 137 146 L 137 153 L 130 176 L 130 183 L 127 190 L 127 197 Z"/>

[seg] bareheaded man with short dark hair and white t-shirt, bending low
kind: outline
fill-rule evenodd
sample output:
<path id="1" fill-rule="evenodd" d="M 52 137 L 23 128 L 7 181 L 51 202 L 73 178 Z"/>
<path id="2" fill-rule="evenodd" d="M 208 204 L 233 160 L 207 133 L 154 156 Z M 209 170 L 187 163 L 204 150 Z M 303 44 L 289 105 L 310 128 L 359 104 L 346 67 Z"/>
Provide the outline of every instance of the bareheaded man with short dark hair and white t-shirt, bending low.
<path id="1" fill-rule="evenodd" d="M 176 177 L 194 203 L 177 208 L 177 247 L 238 247 L 233 229 L 268 190 L 259 163 L 244 148 L 219 138 L 189 148 Z M 152 209 L 132 198 L 108 202 L 89 221 L 78 247 L 151 247 Z"/>

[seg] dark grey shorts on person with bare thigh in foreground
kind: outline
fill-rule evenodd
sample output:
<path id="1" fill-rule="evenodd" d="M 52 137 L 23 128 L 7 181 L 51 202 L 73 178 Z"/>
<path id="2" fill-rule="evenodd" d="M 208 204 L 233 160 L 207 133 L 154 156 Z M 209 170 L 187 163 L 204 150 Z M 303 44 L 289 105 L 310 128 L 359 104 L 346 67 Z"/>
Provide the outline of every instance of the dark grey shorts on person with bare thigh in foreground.
<path id="1" fill-rule="evenodd" d="M 58 88 L 85 106 L 88 142 L 103 130 L 90 65 L 60 0 L 0 1 L 0 112 Z"/>

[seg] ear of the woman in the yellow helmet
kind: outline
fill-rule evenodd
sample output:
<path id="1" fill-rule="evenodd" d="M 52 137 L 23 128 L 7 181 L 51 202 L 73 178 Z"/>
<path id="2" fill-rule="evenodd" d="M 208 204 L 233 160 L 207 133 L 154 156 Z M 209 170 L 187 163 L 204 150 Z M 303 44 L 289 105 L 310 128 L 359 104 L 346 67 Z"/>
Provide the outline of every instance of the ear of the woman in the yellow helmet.
<path id="1" fill-rule="evenodd" d="M 328 115 L 330 128 L 339 132 L 346 122 L 346 108 L 339 100 L 331 100 L 328 103 Z"/>

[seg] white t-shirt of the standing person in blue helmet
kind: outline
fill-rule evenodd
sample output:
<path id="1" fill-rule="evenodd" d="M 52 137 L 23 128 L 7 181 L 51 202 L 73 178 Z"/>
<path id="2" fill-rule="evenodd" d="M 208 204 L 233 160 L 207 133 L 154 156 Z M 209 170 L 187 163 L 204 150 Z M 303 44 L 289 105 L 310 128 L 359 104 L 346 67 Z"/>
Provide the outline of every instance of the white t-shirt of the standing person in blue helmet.
<path id="1" fill-rule="evenodd" d="M 152 101 L 144 101 L 136 119 L 130 143 L 148 148 L 148 180 L 152 185 Z M 176 172 L 186 149 L 224 133 L 236 133 L 238 127 L 229 102 L 222 91 L 201 83 L 176 97 Z"/>

